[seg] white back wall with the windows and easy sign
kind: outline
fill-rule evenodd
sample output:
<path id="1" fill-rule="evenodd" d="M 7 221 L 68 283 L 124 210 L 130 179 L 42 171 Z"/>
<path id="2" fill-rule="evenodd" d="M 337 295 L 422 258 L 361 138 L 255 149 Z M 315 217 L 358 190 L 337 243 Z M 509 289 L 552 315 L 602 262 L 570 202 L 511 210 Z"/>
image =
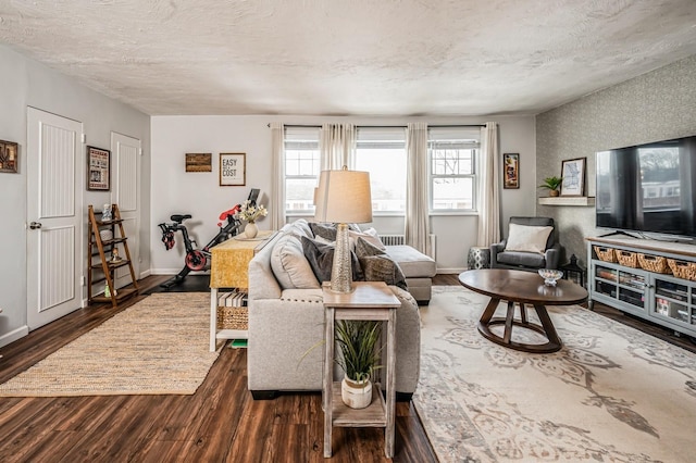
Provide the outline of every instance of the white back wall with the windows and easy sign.
<path id="1" fill-rule="evenodd" d="M 181 235 L 177 245 L 165 251 L 157 224 L 169 221 L 175 213 L 189 213 L 189 232 L 200 246 L 216 233 L 220 212 L 244 201 L 250 188 L 261 188 L 261 200 L 268 208 L 271 190 L 271 132 L 270 122 L 284 124 L 312 124 L 345 122 L 358 125 L 405 125 L 424 121 L 428 124 L 482 124 L 499 123 L 500 150 L 520 153 L 520 189 L 502 190 L 501 223 L 510 215 L 533 215 L 535 184 L 535 123 L 534 116 L 451 117 L 451 118 L 374 118 L 374 117 L 322 117 L 322 116 L 152 116 L 152 217 L 153 229 L 152 273 L 174 274 L 184 266 L 184 248 Z M 213 168 L 210 173 L 186 173 L 185 153 L 210 152 Z M 219 186 L 219 153 L 244 152 L 247 154 L 247 183 L 244 187 Z M 501 182 L 501 180 L 500 180 Z M 258 223 L 268 229 L 270 221 Z M 401 220 L 375 217 L 373 225 L 380 233 L 402 233 Z M 507 226 L 504 227 L 507 232 Z M 442 273 L 461 272 L 467 252 L 475 246 L 477 217 L 434 216 L 432 230 L 437 235 L 437 265 Z"/>

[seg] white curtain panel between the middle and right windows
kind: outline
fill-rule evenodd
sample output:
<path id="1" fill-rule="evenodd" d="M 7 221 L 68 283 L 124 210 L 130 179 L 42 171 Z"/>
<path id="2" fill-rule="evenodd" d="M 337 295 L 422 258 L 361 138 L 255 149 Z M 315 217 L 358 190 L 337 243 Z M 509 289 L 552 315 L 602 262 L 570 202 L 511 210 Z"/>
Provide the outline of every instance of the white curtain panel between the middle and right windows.
<path id="1" fill-rule="evenodd" d="M 406 243 L 426 255 L 433 255 L 427 204 L 427 124 L 419 122 L 408 125 L 406 149 Z"/>

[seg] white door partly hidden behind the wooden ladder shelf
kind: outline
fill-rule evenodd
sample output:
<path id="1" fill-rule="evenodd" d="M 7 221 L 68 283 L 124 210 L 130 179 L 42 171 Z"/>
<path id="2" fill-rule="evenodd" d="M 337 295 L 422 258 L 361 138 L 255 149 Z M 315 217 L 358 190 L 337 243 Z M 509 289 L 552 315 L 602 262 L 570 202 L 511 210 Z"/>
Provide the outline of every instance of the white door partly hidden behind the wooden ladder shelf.
<path id="1" fill-rule="evenodd" d="M 133 270 L 136 278 L 140 275 L 140 140 L 122 134 L 111 133 L 112 153 L 112 202 L 119 204 L 121 218 L 126 237 L 128 237 L 128 251 L 133 261 Z M 124 255 L 123 249 L 120 250 Z M 130 284 L 128 267 L 116 271 L 116 288 Z"/>

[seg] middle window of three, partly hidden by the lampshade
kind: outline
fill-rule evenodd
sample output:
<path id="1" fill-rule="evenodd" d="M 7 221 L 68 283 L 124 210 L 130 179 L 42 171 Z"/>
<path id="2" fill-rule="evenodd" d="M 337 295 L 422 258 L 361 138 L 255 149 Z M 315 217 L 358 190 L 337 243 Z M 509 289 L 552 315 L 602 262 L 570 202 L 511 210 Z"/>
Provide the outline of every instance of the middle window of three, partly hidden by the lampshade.
<path id="1" fill-rule="evenodd" d="M 372 213 L 406 211 L 406 128 L 358 127 L 356 170 L 370 173 Z"/>

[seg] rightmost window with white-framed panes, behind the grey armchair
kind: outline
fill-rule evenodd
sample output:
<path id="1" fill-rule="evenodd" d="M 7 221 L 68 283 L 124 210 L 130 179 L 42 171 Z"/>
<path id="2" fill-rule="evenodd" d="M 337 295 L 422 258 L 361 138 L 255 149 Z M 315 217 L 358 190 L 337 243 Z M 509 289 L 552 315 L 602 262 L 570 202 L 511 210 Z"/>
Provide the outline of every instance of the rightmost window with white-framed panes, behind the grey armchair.
<path id="1" fill-rule="evenodd" d="M 431 212 L 474 212 L 481 132 L 432 127 L 427 138 Z"/>

